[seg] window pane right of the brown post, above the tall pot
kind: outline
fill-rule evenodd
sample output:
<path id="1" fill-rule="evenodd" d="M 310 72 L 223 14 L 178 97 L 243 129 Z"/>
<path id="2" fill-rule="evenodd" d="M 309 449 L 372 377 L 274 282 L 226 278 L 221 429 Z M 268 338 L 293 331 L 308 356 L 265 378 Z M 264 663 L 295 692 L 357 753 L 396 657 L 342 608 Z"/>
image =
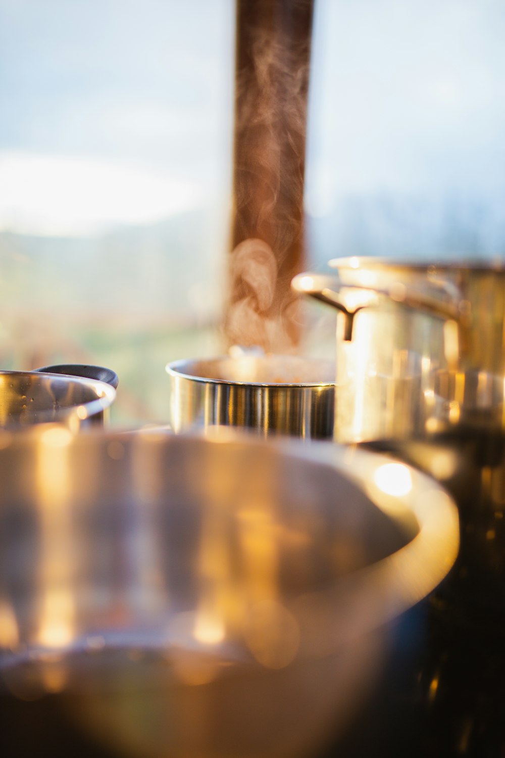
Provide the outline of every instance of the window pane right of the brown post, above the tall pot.
<path id="1" fill-rule="evenodd" d="M 499 0 L 316 0 L 313 265 L 505 255 L 504 36 Z"/>

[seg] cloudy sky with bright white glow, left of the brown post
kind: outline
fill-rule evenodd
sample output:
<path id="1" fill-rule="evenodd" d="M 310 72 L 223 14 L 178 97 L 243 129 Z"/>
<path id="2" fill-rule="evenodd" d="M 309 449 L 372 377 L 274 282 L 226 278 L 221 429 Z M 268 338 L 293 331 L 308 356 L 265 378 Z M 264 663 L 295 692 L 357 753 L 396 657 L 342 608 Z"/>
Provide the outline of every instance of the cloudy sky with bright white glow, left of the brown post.
<path id="1" fill-rule="evenodd" d="M 229 0 L 0 0 L 0 228 L 96 233 L 226 193 Z"/>

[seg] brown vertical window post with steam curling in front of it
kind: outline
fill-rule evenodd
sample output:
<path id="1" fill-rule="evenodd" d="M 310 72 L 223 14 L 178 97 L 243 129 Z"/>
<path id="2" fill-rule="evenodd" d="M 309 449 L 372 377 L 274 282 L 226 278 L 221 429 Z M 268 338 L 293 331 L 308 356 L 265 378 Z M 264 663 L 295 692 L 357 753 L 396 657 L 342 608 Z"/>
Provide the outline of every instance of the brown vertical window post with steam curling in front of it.
<path id="1" fill-rule="evenodd" d="M 304 156 L 313 0 L 238 0 L 234 218 L 226 337 L 292 352 L 304 268 Z"/>

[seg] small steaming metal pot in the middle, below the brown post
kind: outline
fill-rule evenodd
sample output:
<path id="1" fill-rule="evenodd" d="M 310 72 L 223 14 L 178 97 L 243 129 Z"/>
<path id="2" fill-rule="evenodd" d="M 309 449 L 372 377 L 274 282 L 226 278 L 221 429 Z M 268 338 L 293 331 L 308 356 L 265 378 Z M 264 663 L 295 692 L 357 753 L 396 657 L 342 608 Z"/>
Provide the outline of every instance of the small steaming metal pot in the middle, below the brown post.
<path id="1" fill-rule="evenodd" d="M 214 425 L 261 436 L 333 435 L 335 364 L 297 356 L 239 356 L 176 361 L 170 377 L 170 424 L 176 432 Z"/>

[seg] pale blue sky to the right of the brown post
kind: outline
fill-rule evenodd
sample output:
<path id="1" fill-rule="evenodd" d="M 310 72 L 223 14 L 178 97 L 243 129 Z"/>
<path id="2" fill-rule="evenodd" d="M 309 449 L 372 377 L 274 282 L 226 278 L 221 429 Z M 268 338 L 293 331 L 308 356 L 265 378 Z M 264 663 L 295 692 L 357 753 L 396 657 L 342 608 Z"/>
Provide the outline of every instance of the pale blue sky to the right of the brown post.
<path id="1" fill-rule="evenodd" d="M 503 39 L 500 0 L 317 0 L 313 209 L 350 193 L 503 193 Z"/>

